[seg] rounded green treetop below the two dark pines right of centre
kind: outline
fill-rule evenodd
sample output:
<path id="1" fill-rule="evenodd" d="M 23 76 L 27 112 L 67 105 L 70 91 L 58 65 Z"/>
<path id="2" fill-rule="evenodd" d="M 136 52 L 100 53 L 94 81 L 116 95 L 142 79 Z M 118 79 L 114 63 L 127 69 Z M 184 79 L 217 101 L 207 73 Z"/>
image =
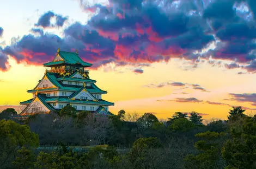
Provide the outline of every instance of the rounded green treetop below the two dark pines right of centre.
<path id="1" fill-rule="evenodd" d="M 170 124 L 168 128 L 172 131 L 187 132 L 194 128 L 194 124 L 186 118 L 178 118 L 173 120 L 172 124 Z"/>

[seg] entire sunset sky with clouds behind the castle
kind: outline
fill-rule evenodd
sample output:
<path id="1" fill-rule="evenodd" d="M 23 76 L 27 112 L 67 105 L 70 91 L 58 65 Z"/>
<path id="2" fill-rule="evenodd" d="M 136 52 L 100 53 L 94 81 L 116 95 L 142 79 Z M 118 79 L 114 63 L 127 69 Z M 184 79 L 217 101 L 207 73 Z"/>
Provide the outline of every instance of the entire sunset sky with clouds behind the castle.
<path id="1" fill-rule="evenodd" d="M 254 0 L 3 0 L 0 16 L 2 106 L 31 99 L 60 48 L 93 63 L 114 114 L 255 114 Z"/>

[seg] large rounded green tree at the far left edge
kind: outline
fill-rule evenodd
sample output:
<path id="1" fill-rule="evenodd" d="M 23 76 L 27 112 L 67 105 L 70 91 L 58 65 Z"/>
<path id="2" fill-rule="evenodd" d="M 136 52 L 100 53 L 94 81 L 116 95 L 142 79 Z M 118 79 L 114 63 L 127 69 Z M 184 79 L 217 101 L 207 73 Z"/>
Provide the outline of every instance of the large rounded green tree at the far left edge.
<path id="1" fill-rule="evenodd" d="M 29 126 L 14 121 L 0 121 L 0 166 L 3 168 L 15 159 L 18 147 L 39 146 L 39 136 L 30 131 Z"/>

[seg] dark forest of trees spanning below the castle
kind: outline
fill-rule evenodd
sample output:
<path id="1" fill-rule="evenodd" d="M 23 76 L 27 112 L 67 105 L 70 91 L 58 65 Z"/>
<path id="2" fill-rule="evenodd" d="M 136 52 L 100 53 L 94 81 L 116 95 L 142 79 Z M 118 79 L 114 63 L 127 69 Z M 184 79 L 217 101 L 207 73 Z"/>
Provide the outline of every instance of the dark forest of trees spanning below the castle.
<path id="1" fill-rule="evenodd" d="M 256 168 L 256 115 L 242 107 L 227 113 L 227 120 L 206 121 L 197 112 L 159 120 L 66 106 L 24 120 L 8 108 L 0 113 L 0 168 Z"/>

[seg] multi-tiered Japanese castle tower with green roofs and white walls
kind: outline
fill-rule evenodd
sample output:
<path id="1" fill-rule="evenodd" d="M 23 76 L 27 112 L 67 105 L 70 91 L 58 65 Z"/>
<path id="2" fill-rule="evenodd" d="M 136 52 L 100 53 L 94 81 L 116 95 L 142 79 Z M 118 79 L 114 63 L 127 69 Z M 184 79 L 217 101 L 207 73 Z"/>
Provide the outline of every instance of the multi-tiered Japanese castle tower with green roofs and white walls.
<path id="1" fill-rule="evenodd" d="M 58 49 L 53 61 L 44 66 L 51 70 L 46 70 L 38 85 L 27 91 L 33 94 L 33 99 L 20 102 L 27 106 L 20 115 L 50 113 L 67 105 L 75 107 L 77 111 L 112 114 L 108 106 L 114 103 L 102 99 L 107 91 L 101 90 L 95 85 L 96 81 L 89 78 L 86 68 L 92 64 L 84 62 L 77 51 L 71 53 Z"/>

